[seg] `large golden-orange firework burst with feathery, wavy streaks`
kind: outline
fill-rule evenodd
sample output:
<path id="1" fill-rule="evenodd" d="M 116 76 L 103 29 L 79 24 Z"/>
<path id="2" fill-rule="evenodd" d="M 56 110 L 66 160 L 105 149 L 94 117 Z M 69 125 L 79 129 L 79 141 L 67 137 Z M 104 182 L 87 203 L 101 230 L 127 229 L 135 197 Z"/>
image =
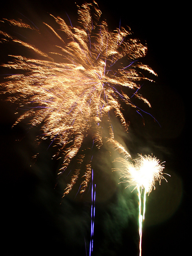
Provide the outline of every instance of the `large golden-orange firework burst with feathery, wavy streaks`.
<path id="1" fill-rule="evenodd" d="M 31 126 L 41 124 L 40 139 L 50 138 L 51 144 L 58 148 L 56 156 L 64 157 L 59 174 L 76 158 L 78 166 L 64 195 L 78 180 L 82 165 L 86 168 L 80 193 L 90 182 L 91 156 L 88 158 L 83 149 L 87 136 L 97 148 L 105 142 L 120 153 L 126 152 L 114 138 L 110 120 L 110 111 L 113 111 L 127 130 L 120 103 L 138 110 L 123 89 L 129 89 L 134 98 L 150 107 L 150 103 L 139 94 L 140 81 L 150 80 L 142 70 L 155 75 L 153 70 L 139 62 L 146 55 L 146 46 L 132 37 L 129 28 L 109 31 L 101 15 L 93 1 L 78 6 L 76 27 L 68 26 L 62 18 L 52 15 L 54 25 L 43 23 L 41 29 L 23 20 L 3 19 L 0 22 L 1 42 L 11 42 L 32 54 L 32 58 L 14 54 L 10 56 L 10 62 L 3 64 L 4 68 L 11 69 L 12 73 L 16 70 L 16 73 L 5 78 L 1 90 L 8 95 L 8 100 L 18 104 L 18 109 L 25 110 L 15 124 L 25 118 L 30 120 Z M 26 37 L 30 33 L 38 35 L 38 45 L 43 33 L 51 34 L 55 45 L 52 45 L 52 50 L 41 50 L 44 46 L 35 46 L 3 31 L 4 24 L 22 30 Z M 127 154 L 127 157 L 130 156 Z"/>

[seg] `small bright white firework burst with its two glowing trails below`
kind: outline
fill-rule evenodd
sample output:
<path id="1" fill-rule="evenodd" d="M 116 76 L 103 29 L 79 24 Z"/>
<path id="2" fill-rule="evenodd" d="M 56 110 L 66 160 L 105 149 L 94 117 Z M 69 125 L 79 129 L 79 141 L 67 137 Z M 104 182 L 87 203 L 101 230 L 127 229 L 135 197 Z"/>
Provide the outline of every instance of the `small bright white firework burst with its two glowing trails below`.
<path id="1" fill-rule="evenodd" d="M 128 186 L 132 186 L 133 190 L 137 189 L 138 199 L 139 199 L 139 236 L 140 236 L 140 256 L 142 252 L 142 224 L 145 218 L 145 208 L 146 208 L 146 194 L 150 194 L 152 189 L 155 189 L 155 182 L 158 181 L 159 184 L 161 180 L 164 179 L 163 176 L 163 163 L 160 163 L 156 157 L 142 156 L 134 159 L 134 164 L 125 158 L 117 158 L 115 161 L 120 162 L 121 166 L 114 170 L 120 171 L 120 178 L 124 178 L 122 182 L 128 182 Z M 169 175 L 169 174 L 167 174 Z M 166 180 L 167 182 L 167 180 Z M 127 187 L 128 187 L 127 186 Z M 126 188 L 127 188 L 126 187 Z M 133 191 L 132 190 L 132 191 Z M 143 201 L 142 201 L 142 191 L 143 192 Z"/>

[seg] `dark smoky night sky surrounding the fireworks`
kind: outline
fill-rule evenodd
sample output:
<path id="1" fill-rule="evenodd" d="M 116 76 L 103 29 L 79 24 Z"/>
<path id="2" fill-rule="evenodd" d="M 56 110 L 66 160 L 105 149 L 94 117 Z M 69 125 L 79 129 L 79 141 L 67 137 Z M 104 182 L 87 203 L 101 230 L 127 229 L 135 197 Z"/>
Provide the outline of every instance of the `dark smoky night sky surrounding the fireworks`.
<path id="1" fill-rule="evenodd" d="M 34 24 L 59 15 L 76 23 L 76 4 L 83 1 L 6 1 L 2 18 L 25 16 Z M 131 2 L 131 1 L 130 1 Z M 188 255 L 190 238 L 190 82 L 188 66 L 189 6 L 182 2 L 159 3 L 97 1 L 109 27 L 129 26 L 135 37 L 148 46 L 142 60 L 158 76 L 142 87 L 152 105 L 151 113 L 125 116 L 130 130 L 125 143 L 130 151 L 153 153 L 165 161 L 168 183 L 162 181 L 147 198 L 143 226 L 142 255 Z M 8 49 L 0 45 L 1 60 Z M 3 70 L 0 70 L 2 82 Z M 53 159 L 49 141 L 37 145 L 38 127 L 26 122 L 12 127 L 16 106 L 0 101 L 2 256 L 89 255 L 91 190 L 80 198 L 74 190 L 62 199 L 64 182 L 57 179 L 61 162 Z M 34 160 L 32 156 L 38 153 Z M 106 149 L 96 152 L 93 161 L 96 183 L 93 256 L 137 256 L 137 196 L 124 184 L 118 185 L 111 172 Z M 55 186 L 58 183 L 58 186 Z"/>

